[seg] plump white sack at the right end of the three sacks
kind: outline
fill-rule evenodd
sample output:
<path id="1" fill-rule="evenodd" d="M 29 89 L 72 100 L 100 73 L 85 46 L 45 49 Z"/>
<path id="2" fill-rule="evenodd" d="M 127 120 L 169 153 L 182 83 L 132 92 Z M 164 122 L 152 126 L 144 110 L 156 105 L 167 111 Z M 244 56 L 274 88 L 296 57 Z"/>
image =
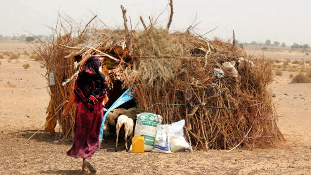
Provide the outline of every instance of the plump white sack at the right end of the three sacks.
<path id="1" fill-rule="evenodd" d="M 190 150 L 190 145 L 184 137 L 185 120 L 174 122 L 169 126 L 170 131 L 170 149 L 172 152 Z"/>

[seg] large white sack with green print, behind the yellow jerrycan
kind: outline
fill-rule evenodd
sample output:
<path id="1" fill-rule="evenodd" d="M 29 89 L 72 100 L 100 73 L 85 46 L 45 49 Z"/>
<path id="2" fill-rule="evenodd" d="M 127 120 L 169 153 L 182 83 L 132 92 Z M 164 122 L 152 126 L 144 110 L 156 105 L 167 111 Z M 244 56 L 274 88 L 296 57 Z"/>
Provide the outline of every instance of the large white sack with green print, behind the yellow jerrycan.
<path id="1" fill-rule="evenodd" d="M 145 141 L 145 151 L 154 148 L 156 126 L 161 125 L 162 117 L 152 113 L 141 113 L 137 115 L 134 135 L 143 135 Z"/>

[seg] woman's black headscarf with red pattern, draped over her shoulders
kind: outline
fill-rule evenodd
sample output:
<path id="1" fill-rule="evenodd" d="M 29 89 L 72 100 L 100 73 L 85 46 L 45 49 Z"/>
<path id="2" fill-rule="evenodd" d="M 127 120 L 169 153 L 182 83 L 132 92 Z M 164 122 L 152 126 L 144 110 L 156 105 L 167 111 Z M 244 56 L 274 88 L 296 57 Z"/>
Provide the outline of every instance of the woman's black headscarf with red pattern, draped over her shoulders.
<path id="1" fill-rule="evenodd" d="M 96 56 L 87 58 L 80 68 L 74 85 L 74 92 L 90 111 L 94 105 L 107 96 L 105 76 L 99 71 L 101 60 Z"/>

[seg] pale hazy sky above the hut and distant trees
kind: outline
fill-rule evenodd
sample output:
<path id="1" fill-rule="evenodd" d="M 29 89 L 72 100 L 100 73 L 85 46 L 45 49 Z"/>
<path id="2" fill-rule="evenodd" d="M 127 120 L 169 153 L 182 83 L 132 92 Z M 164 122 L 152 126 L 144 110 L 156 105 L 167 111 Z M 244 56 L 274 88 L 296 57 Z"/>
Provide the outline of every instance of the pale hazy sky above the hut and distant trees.
<path id="1" fill-rule="evenodd" d="M 76 22 L 87 23 L 94 14 L 109 27 L 123 27 L 120 5 L 127 9 L 133 27 L 139 16 L 148 22 L 148 16 L 163 20 L 169 17 L 169 0 L 0 0 L 0 34 L 12 36 L 26 34 L 52 34 L 58 13 L 66 14 Z M 311 44 L 310 0 L 173 0 L 171 30 L 185 30 L 197 15 L 201 34 L 218 27 L 206 35 L 212 39 L 236 39 L 242 42 L 285 42 Z M 160 23 L 161 24 L 161 23 Z M 128 25 L 130 25 L 128 23 Z"/>

